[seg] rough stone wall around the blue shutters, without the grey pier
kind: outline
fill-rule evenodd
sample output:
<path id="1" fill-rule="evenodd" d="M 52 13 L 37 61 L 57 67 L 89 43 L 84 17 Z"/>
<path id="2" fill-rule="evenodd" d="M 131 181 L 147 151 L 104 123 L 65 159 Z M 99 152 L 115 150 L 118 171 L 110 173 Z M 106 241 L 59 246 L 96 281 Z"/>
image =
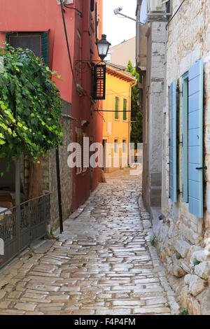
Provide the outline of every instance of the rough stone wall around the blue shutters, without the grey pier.
<path id="1" fill-rule="evenodd" d="M 173 1 L 173 13 L 181 1 Z M 210 166 L 210 16 L 208 0 L 189 0 L 183 3 L 168 27 L 167 40 L 167 80 L 165 90 L 176 78 L 181 91 L 181 76 L 198 59 L 204 59 L 204 164 Z M 179 94 L 179 140 L 181 136 L 181 93 Z M 169 162 L 169 98 L 166 98 L 164 116 L 163 161 Z M 178 183 L 181 182 L 181 144 L 178 150 Z M 169 166 L 163 165 L 165 172 L 165 195 L 162 219 L 153 218 L 153 232 L 156 246 L 165 265 L 172 287 L 181 296 L 180 302 L 189 314 L 210 314 L 210 216 L 209 191 L 210 172 L 204 175 L 204 218 L 189 213 L 188 204 L 182 202 L 181 194 L 176 203 L 169 199 Z M 162 196 L 163 200 L 163 196 Z"/>

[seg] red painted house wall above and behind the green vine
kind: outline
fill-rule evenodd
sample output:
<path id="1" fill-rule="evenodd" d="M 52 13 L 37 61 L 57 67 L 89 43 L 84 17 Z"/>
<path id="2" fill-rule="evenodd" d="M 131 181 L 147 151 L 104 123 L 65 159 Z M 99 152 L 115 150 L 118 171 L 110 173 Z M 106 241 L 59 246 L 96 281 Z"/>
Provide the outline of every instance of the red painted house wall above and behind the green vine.
<path id="1" fill-rule="evenodd" d="M 102 36 L 102 0 L 98 3 L 99 25 L 98 38 Z M 99 60 L 97 55 L 96 27 L 91 27 L 91 16 L 95 22 L 95 13 L 90 12 L 90 0 L 74 0 L 73 5 L 83 13 L 80 18 L 76 10 L 65 9 L 64 17 L 69 39 L 69 48 L 76 83 L 83 87 L 83 95 L 78 94 L 69 63 L 66 48 L 61 6 L 56 0 L 1 0 L 0 42 L 5 41 L 6 31 L 49 31 L 48 33 L 48 66 L 62 76 L 54 79 L 61 97 L 72 104 L 71 116 L 74 118 L 73 141 L 76 141 L 76 130 L 83 130 L 94 142 L 102 143 L 102 116 L 94 112 L 101 108 L 101 101 L 92 102 L 91 98 L 91 60 Z M 78 35 L 80 35 L 80 43 Z M 76 69 L 76 60 L 85 59 L 82 73 Z M 91 111 L 92 109 L 92 111 Z M 82 126 L 87 122 L 86 127 Z M 66 150 L 67 152 L 67 150 Z M 67 164 L 66 164 L 67 166 Z M 101 169 L 93 169 L 92 189 L 99 183 Z M 69 181 L 69 183 L 72 183 Z M 90 195 L 90 169 L 84 174 L 76 174 L 73 169 L 73 210 L 85 202 Z"/>

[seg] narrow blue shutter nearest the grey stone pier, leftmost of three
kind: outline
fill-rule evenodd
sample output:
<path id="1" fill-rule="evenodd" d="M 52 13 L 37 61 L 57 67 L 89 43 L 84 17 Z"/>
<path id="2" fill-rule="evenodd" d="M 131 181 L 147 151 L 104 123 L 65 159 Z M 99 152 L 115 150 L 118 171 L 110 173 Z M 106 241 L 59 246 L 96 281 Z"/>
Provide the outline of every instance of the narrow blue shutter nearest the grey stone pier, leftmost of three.
<path id="1" fill-rule="evenodd" d="M 176 80 L 170 86 L 169 197 L 176 202 Z"/>

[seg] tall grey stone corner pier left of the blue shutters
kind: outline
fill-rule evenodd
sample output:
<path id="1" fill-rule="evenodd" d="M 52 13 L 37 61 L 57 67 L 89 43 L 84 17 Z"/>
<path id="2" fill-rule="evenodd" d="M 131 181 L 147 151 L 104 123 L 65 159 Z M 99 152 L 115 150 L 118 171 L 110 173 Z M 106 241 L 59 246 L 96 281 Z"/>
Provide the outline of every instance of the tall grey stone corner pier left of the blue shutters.
<path id="1" fill-rule="evenodd" d="M 161 204 L 162 185 L 162 108 L 165 85 L 165 23 L 154 22 L 146 31 L 146 105 L 144 106 L 143 197 L 146 208 Z"/>

